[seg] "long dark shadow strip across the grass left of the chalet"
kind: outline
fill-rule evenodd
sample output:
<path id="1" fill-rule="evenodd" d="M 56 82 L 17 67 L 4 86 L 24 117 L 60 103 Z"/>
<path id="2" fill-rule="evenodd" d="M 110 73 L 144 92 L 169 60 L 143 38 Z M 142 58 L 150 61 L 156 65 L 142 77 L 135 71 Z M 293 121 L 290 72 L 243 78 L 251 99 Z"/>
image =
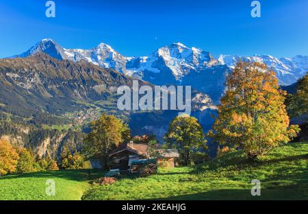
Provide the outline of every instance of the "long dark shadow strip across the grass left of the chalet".
<path id="1" fill-rule="evenodd" d="M 88 169 L 65 169 L 55 171 L 36 171 L 24 174 L 10 174 L 0 177 L 0 180 L 10 180 L 16 178 L 63 178 L 66 180 L 86 181 L 102 177 L 105 174 L 103 170 L 90 169 L 90 177 Z"/>

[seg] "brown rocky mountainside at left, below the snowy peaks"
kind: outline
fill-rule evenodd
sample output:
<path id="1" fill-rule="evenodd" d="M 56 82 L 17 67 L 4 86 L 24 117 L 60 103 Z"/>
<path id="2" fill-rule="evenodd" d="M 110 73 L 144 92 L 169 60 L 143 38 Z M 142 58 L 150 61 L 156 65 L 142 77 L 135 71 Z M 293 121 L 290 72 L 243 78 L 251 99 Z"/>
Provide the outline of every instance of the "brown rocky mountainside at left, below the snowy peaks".
<path id="1" fill-rule="evenodd" d="M 57 60 L 45 53 L 0 60 L 0 110 L 31 117 L 37 112 L 56 115 L 105 100 L 131 78 L 84 60 Z"/>

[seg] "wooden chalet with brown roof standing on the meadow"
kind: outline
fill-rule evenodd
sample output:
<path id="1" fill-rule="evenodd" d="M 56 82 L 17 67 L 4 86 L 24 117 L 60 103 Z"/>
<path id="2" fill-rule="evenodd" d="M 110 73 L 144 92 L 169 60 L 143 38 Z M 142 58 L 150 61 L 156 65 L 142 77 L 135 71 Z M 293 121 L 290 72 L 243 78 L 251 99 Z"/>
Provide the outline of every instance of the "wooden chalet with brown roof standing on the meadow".
<path id="1" fill-rule="evenodd" d="M 159 150 L 162 154 L 158 158 L 158 163 L 166 160 L 170 167 L 175 167 L 176 158 L 179 158 L 179 153 L 175 150 Z M 144 143 L 123 143 L 109 154 L 110 168 L 127 170 L 132 162 L 151 158 L 149 156 L 149 145 Z"/>

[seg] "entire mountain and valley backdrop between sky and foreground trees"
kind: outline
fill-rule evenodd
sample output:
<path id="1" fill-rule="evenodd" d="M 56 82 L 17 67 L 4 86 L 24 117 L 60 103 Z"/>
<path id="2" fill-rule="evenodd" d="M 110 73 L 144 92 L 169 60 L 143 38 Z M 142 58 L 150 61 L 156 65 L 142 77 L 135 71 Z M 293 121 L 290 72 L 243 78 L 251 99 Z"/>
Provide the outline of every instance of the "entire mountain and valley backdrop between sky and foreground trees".
<path id="1" fill-rule="evenodd" d="M 88 123 L 110 112 L 125 119 L 133 135 L 153 133 L 162 140 L 177 111 L 116 108 L 116 88 L 131 86 L 135 79 L 140 85 L 192 86 L 192 116 L 207 131 L 225 77 L 238 60 L 268 64 L 282 86 L 294 84 L 308 71 L 308 56 L 214 58 L 208 51 L 172 43 L 148 56 L 128 57 L 103 43 L 92 49 L 65 49 L 43 39 L 24 53 L 0 59 L 0 137 L 56 158 L 64 145 L 79 150 Z"/>

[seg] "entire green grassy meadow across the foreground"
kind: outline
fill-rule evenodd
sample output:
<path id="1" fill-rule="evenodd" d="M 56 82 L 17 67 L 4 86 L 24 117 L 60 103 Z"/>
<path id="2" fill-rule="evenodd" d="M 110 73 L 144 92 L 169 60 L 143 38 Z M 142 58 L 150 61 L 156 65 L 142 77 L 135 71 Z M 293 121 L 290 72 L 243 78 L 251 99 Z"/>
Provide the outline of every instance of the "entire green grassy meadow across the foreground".
<path id="1" fill-rule="evenodd" d="M 47 171 L 0 178 L 0 200 L 308 200 L 308 143 L 289 143 L 257 161 L 229 152 L 194 167 L 159 169 L 146 178 L 126 176 L 107 186 L 90 181 L 103 175 L 86 170 Z M 45 195 L 47 179 L 56 194 Z M 252 196 L 251 180 L 261 181 Z"/>

